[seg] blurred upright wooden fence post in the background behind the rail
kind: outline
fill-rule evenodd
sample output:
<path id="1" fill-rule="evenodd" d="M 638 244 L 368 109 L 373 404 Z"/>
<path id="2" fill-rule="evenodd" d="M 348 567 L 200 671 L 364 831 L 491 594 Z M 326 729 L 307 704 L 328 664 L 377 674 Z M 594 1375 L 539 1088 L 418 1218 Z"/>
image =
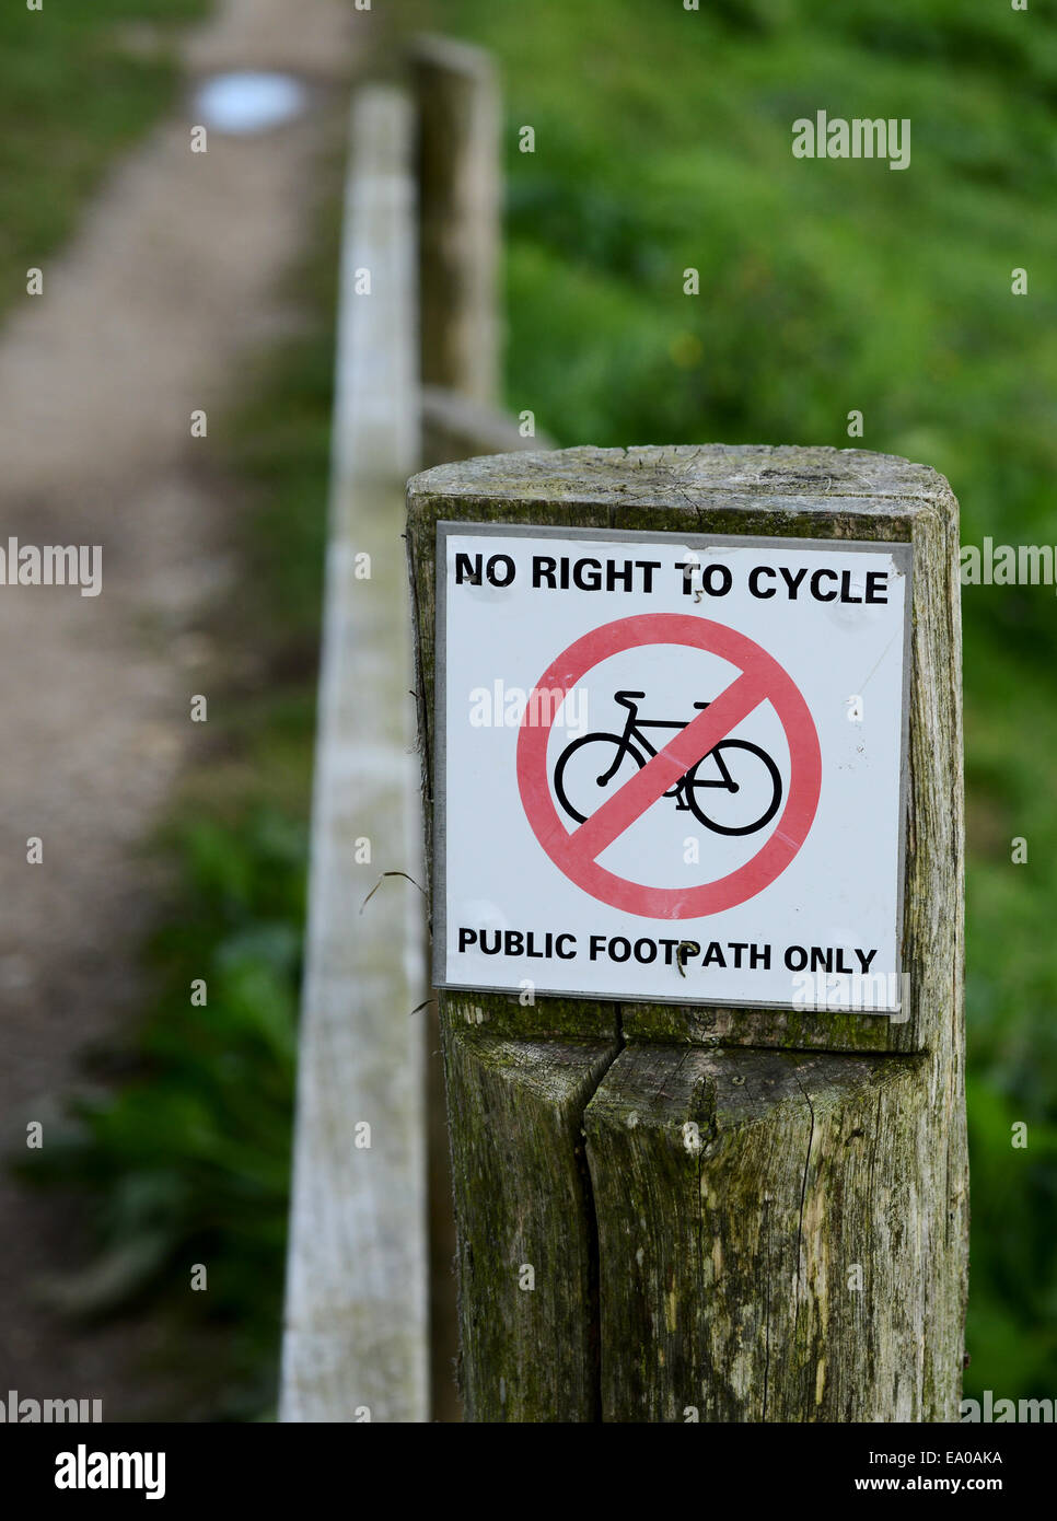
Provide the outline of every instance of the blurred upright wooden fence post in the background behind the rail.
<path id="1" fill-rule="evenodd" d="M 491 55 L 444 37 L 411 46 L 418 108 L 421 379 L 499 395 L 502 175 Z"/>

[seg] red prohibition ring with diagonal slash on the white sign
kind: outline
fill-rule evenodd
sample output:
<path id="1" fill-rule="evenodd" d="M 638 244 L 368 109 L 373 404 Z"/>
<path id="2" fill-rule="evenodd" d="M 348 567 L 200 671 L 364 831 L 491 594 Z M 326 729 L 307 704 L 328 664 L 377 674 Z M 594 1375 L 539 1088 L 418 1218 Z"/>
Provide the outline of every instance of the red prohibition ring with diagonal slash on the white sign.
<path id="1" fill-rule="evenodd" d="M 576 829 L 566 829 L 551 795 L 548 742 L 560 701 L 601 660 L 642 645 L 687 645 L 738 666 L 738 675 L 675 739 Z M 537 692 L 549 701 L 532 701 Z M 595 859 L 678 777 L 724 739 L 753 709 L 770 701 L 789 747 L 789 794 L 767 843 L 751 861 L 698 887 L 645 887 L 607 872 Z M 548 713 L 546 722 L 531 715 Z M 745 634 L 686 613 L 642 613 L 604 624 L 569 645 L 537 681 L 517 738 L 517 786 L 532 834 L 560 872 L 592 897 L 646 919 L 700 919 L 756 897 L 785 872 L 815 818 L 823 762 L 808 704 L 788 671 Z"/>

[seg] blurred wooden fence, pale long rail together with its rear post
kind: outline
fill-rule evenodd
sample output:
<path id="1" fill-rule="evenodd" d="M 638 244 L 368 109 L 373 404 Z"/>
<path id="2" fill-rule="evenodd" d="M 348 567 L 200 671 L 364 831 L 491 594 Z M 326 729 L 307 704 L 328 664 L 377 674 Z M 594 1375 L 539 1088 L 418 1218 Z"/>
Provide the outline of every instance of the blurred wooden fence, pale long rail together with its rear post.
<path id="1" fill-rule="evenodd" d="M 412 1016 L 427 983 L 403 488 L 423 464 L 534 443 L 496 405 L 490 59 L 421 40 L 408 75 L 362 87 L 350 116 L 283 1421 L 430 1416 L 436 1040 Z"/>

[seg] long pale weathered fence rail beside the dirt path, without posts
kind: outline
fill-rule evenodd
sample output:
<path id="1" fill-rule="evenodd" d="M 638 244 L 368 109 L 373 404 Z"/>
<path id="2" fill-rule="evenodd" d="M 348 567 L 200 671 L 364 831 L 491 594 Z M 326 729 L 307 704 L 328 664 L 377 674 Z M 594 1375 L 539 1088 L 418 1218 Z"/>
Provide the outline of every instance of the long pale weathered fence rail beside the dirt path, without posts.
<path id="1" fill-rule="evenodd" d="M 283 1421 L 427 1419 L 411 671 L 394 552 L 418 458 L 414 117 L 353 105 L 301 1011 Z M 370 292 L 363 271 L 370 272 Z M 398 538 L 397 538 L 398 541 Z M 417 900 L 418 899 L 418 900 Z"/>

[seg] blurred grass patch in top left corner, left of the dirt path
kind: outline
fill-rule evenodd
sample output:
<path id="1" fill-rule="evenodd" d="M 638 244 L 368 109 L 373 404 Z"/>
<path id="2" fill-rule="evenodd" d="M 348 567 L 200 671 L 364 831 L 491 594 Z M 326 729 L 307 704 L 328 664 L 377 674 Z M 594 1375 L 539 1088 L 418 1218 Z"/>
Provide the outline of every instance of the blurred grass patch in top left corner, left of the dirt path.
<path id="1" fill-rule="evenodd" d="M 0 8 L 0 310 L 26 294 L 114 155 L 170 106 L 178 23 L 210 0 Z M 149 32 L 146 30 L 149 27 Z"/>

